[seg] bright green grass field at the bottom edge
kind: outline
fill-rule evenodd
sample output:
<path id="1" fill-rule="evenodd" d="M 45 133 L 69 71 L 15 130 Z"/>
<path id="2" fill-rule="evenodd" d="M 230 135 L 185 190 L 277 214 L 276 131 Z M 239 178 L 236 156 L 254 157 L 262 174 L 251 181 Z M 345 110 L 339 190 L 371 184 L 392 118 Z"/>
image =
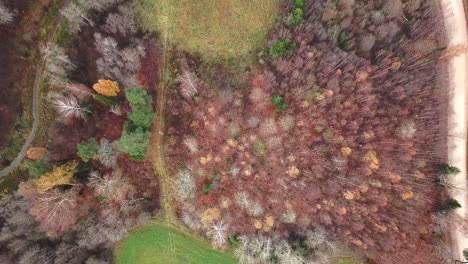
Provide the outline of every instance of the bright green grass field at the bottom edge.
<path id="1" fill-rule="evenodd" d="M 116 250 L 117 264 L 230 264 L 237 260 L 210 244 L 161 225 L 133 231 Z"/>

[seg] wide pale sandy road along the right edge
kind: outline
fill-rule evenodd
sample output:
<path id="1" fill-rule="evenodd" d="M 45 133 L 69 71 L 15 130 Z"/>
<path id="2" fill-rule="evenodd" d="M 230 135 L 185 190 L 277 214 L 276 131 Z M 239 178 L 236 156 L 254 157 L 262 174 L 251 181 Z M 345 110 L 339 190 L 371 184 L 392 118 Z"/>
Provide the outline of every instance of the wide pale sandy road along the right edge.
<path id="1" fill-rule="evenodd" d="M 449 39 L 448 47 L 462 44 L 467 46 L 466 16 L 462 0 L 441 0 L 444 8 L 444 19 Z M 466 91 L 467 91 L 467 54 L 453 58 L 449 64 L 450 91 L 448 117 L 448 163 L 456 166 L 461 173 L 451 177 L 453 188 L 451 195 L 458 200 L 462 208 L 455 210 L 455 214 L 465 217 L 468 213 L 467 179 L 466 179 L 466 147 L 467 147 L 467 119 L 466 119 Z M 468 248 L 468 238 L 451 224 L 453 258 L 463 260 L 463 249 Z"/>

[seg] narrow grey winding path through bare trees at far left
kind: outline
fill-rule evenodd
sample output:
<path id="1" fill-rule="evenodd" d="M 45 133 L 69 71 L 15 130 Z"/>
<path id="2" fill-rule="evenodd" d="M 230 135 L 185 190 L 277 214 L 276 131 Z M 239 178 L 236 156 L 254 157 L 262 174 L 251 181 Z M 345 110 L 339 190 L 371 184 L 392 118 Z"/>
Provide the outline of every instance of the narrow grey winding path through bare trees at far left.
<path id="1" fill-rule="evenodd" d="M 66 8 L 68 4 L 71 2 L 71 0 L 66 0 L 65 3 L 63 4 L 63 8 Z M 58 31 L 58 28 L 62 24 L 63 21 L 63 16 L 62 14 L 59 13 L 58 17 L 56 18 L 55 21 L 55 26 L 54 30 L 50 32 L 49 38 L 47 39 L 46 45 L 49 46 L 55 38 L 55 34 Z M 33 85 L 33 125 L 31 132 L 29 132 L 28 137 L 26 138 L 26 141 L 24 142 L 23 147 L 21 148 L 20 152 L 16 156 L 16 158 L 11 162 L 11 164 L 4 168 L 3 170 L 0 171 L 0 177 L 8 175 L 10 172 L 12 172 L 20 163 L 23 161 L 24 157 L 26 156 L 26 152 L 28 151 L 29 147 L 31 146 L 34 137 L 36 136 L 37 132 L 37 127 L 39 125 L 39 90 L 40 90 L 40 84 L 42 81 L 42 74 L 44 73 L 44 67 L 45 67 L 45 59 L 41 58 L 39 62 L 39 67 L 36 70 L 36 77 L 34 79 L 34 85 Z"/>

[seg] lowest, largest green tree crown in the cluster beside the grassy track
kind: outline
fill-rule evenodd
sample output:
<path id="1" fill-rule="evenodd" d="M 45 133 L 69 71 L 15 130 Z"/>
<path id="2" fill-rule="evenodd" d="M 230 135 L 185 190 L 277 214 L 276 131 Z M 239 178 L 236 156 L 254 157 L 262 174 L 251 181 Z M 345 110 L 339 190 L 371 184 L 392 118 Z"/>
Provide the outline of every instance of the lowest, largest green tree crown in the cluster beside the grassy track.
<path id="1" fill-rule="evenodd" d="M 131 124 L 126 124 L 122 136 L 117 141 L 119 151 L 127 153 L 136 161 L 143 161 L 150 145 L 149 132 L 141 127 L 132 131 Z"/>

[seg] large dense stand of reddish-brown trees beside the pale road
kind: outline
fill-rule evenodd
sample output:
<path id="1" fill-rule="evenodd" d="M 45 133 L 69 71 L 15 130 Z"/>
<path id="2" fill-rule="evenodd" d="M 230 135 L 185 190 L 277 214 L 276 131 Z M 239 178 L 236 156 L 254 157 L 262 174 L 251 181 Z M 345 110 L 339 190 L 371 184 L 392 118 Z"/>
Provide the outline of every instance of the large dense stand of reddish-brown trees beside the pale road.
<path id="1" fill-rule="evenodd" d="M 433 251 L 421 230 L 432 228 L 433 165 L 443 158 L 438 55 L 406 40 L 360 57 L 315 43 L 308 27 L 281 34 L 298 43 L 294 56 L 254 71 L 248 89 L 215 86 L 217 95 L 205 90 L 173 111 L 169 133 L 189 141 L 169 153 L 184 154 L 185 165 L 174 163 L 195 182 L 195 210 L 181 200 L 181 214 L 219 208 L 236 234 L 259 232 L 273 216 L 276 234 L 324 228 L 377 263 L 424 259 L 410 252 Z M 273 95 L 288 109 L 276 109 Z"/>

